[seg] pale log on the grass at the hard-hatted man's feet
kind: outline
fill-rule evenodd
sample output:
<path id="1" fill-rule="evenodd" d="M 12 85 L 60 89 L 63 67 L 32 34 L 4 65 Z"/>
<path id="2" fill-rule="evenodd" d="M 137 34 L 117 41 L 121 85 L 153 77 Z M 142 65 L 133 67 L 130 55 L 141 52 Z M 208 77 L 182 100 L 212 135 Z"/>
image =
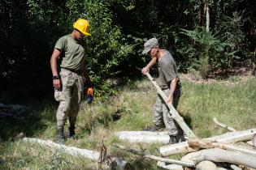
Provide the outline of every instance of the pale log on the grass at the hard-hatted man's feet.
<path id="1" fill-rule="evenodd" d="M 80 149 L 80 148 L 77 148 L 77 147 L 68 147 L 66 145 L 61 145 L 61 144 L 52 142 L 50 140 L 41 140 L 41 139 L 38 139 L 38 138 L 23 138 L 23 141 L 24 142 L 38 143 L 42 147 L 45 147 L 45 146 L 52 147 L 52 148 L 57 149 L 59 151 L 63 151 L 67 154 L 83 156 L 86 159 L 91 159 L 91 160 L 94 160 L 94 161 L 99 161 L 99 158 L 100 158 L 100 153 L 98 151 L 90 151 L 90 150 L 87 150 L 87 149 Z M 117 168 L 127 169 L 127 168 L 130 167 L 130 164 L 128 162 L 126 162 L 125 160 L 123 160 L 123 159 L 119 159 L 119 158 L 108 156 L 108 155 L 106 155 L 105 157 L 110 158 L 111 159 L 111 165 L 114 165 Z"/>

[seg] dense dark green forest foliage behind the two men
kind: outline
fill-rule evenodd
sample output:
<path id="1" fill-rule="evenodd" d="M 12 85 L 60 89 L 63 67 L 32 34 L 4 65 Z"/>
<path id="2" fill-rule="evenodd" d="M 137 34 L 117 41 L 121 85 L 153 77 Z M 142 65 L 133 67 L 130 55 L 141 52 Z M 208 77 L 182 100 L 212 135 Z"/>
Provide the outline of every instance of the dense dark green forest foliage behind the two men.
<path id="1" fill-rule="evenodd" d="M 205 6 L 210 8 L 210 32 Z M 180 71 L 193 68 L 207 77 L 210 71 L 224 73 L 240 62 L 251 64 L 255 7 L 249 0 L 3 0 L 0 90 L 6 92 L 1 99 L 50 91 L 54 43 L 72 32 L 78 18 L 91 23 L 88 67 L 98 96 L 115 92 L 113 79 L 140 75 L 137 68 L 149 61 L 141 55 L 143 42 L 152 36 L 171 51 Z"/>

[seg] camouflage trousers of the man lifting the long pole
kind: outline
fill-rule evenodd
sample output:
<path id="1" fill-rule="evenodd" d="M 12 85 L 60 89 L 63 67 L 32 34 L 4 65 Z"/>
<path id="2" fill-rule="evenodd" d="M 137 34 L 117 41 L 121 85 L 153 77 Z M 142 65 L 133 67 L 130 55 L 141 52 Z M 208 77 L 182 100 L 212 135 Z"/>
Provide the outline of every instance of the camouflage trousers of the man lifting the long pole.
<path id="1" fill-rule="evenodd" d="M 169 89 L 163 90 L 164 94 L 166 96 L 169 96 Z M 180 100 L 182 90 L 181 88 L 177 88 L 176 91 L 173 94 L 173 107 L 177 108 Z M 157 100 L 154 104 L 153 108 L 153 122 L 154 125 L 159 129 L 161 126 L 163 126 L 163 123 L 165 125 L 165 128 L 168 131 L 169 135 L 177 135 L 177 134 L 183 134 L 183 131 L 180 129 L 180 126 L 171 118 L 171 113 L 169 112 L 169 108 L 163 101 L 161 96 L 157 96 Z"/>

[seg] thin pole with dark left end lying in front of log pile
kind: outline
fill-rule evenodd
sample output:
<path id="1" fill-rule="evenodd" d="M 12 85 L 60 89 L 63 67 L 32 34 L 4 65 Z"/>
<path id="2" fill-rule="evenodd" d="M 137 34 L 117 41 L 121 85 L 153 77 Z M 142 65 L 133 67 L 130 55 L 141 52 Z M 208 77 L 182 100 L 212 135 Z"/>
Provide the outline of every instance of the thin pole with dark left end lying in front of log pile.
<path id="1" fill-rule="evenodd" d="M 166 159 L 166 158 L 162 158 L 162 157 L 155 156 L 155 155 L 149 155 L 149 154 L 146 154 L 143 151 L 136 151 L 136 150 L 133 150 L 133 149 L 128 148 L 128 147 L 120 146 L 116 143 L 112 144 L 112 146 L 123 149 L 125 151 L 129 151 L 132 154 L 141 155 L 144 158 L 154 159 L 154 160 L 162 161 L 162 162 L 169 163 L 169 164 L 179 164 L 179 165 L 182 165 L 182 166 L 185 166 L 185 167 L 195 167 L 195 164 L 193 164 L 193 163 L 184 162 L 184 161 L 180 161 L 180 160 L 176 160 L 176 159 Z"/>

